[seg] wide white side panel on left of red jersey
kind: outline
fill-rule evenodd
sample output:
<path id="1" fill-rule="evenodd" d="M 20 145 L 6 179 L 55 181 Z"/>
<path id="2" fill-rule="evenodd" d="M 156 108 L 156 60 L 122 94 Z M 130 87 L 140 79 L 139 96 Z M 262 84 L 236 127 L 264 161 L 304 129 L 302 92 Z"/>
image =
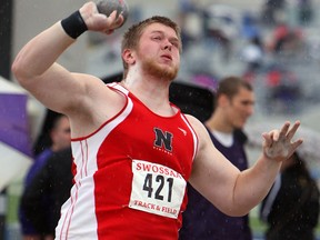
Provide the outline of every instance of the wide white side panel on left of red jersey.
<path id="1" fill-rule="evenodd" d="M 123 92 L 124 89 L 119 90 Z M 93 174 L 98 170 L 97 153 L 109 133 L 131 112 L 133 103 L 131 99 L 127 99 L 128 103 L 124 110 L 117 118 L 94 134 L 71 142 L 74 164 L 77 166 L 76 183 L 71 189 L 70 198 L 61 208 L 61 218 L 56 229 L 57 240 L 98 239 L 93 181 Z M 82 217 L 83 214 L 86 218 Z M 94 230 L 92 231 L 92 229 Z"/>

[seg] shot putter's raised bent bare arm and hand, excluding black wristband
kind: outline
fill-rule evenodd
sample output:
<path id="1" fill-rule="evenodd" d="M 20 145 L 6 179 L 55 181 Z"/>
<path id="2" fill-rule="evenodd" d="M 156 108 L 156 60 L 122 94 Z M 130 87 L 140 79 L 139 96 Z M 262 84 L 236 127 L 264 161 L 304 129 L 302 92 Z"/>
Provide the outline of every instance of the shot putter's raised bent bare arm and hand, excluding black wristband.
<path id="1" fill-rule="evenodd" d="M 83 4 L 79 12 L 91 31 L 110 33 L 123 20 L 117 20 L 116 12 L 109 18 L 98 13 L 93 2 Z M 12 72 L 23 88 L 46 107 L 63 113 L 97 96 L 94 91 L 103 84 L 92 76 L 72 73 L 56 62 L 74 41 L 59 21 L 31 39 L 12 64 Z"/>

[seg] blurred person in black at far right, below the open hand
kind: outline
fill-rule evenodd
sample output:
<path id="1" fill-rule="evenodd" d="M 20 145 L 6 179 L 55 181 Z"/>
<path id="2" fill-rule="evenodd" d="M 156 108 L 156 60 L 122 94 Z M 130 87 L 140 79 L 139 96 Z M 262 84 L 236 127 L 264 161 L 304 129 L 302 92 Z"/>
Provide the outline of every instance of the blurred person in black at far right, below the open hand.
<path id="1" fill-rule="evenodd" d="M 268 223 L 267 240 L 314 240 L 319 189 L 296 152 L 283 161 L 281 173 L 263 200 L 260 218 Z"/>

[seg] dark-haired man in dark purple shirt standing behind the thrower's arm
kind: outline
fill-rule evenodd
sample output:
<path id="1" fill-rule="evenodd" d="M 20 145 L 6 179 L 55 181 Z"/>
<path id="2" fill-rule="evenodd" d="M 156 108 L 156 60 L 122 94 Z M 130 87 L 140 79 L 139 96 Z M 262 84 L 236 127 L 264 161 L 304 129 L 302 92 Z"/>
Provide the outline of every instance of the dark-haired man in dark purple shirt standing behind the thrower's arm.
<path id="1" fill-rule="evenodd" d="M 204 122 L 216 148 L 239 170 L 248 168 L 244 151 L 247 137 L 241 130 L 253 113 L 252 86 L 238 77 L 220 80 L 214 111 Z M 183 212 L 180 240 L 251 240 L 249 217 L 229 217 L 219 211 L 197 190 L 188 184 L 188 207 Z"/>

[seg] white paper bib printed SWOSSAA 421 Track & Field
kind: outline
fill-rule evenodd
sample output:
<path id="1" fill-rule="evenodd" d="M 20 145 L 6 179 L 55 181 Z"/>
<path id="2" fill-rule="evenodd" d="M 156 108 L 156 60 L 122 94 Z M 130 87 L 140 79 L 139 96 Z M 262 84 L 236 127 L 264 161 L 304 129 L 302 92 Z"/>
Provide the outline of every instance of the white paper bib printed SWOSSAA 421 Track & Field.
<path id="1" fill-rule="evenodd" d="M 132 172 L 129 208 L 177 219 L 187 184 L 182 176 L 142 160 L 132 160 Z"/>

